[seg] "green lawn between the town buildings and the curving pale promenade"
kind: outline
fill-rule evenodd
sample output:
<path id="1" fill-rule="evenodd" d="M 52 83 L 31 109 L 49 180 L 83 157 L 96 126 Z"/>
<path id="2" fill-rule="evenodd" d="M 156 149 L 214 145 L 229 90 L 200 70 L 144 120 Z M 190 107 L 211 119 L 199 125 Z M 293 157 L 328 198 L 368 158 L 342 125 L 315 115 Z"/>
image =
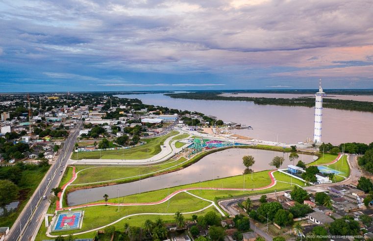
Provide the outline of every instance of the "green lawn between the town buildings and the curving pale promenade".
<path id="1" fill-rule="evenodd" d="M 165 142 L 165 140 L 171 136 L 176 135 L 177 131 L 172 131 L 167 135 L 156 137 L 156 138 L 149 138 L 149 139 L 142 139 L 142 141 L 146 142 L 144 145 L 136 146 L 129 149 L 118 149 L 118 150 L 105 150 L 101 151 L 101 159 L 146 159 L 148 157 L 153 157 L 159 152 L 161 152 L 161 145 Z M 89 152 L 74 152 L 71 156 L 71 159 L 77 160 L 79 156 L 79 160 L 81 159 L 100 159 L 100 152 L 99 151 L 89 151 Z"/>

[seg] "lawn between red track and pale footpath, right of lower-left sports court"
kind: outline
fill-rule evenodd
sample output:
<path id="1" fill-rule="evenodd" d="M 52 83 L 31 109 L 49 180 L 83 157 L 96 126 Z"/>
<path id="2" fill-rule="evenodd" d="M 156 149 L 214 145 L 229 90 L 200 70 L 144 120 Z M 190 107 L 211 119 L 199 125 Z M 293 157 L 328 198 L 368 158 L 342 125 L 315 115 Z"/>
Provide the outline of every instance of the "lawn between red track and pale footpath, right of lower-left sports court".
<path id="1" fill-rule="evenodd" d="M 84 209 L 84 220 L 82 228 L 79 232 L 87 231 L 92 228 L 98 228 L 108 223 L 114 222 L 121 217 L 139 214 L 139 213 L 169 213 L 174 214 L 177 211 L 183 212 L 193 212 L 198 211 L 204 207 L 210 205 L 210 202 L 201 200 L 197 197 L 189 195 L 187 193 L 178 193 L 170 199 L 170 205 L 168 202 L 164 202 L 156 205 L 141 205 L 141 206 L 127 206 L 118 207 L 116 206 L 92 206 L 81 208 Z M 66 211 L 64 211 L 66 212 Z M 61 232 L 54 232 L 61 233 Z M 54 234 L 53 233 L 53 234 Z M 65 233 L 65 232 L 64 232 Z M 75 231 L 68 231 L 66 234 L 76 233 Z"/>

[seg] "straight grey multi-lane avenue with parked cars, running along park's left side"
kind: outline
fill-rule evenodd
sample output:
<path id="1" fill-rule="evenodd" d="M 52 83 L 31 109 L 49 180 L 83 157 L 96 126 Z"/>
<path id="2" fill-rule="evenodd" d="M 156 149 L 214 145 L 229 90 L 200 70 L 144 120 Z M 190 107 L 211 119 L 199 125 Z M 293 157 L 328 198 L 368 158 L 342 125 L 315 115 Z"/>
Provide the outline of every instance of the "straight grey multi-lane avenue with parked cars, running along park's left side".
<path id="1" fill-rule="evenodd" d="M 64 166 L 63 171 L 65 171 L 67 160 L 74 148 L 76 137 L 79 134 L 81 126 L 82 124 L 80 124 L 65 141 L 61 154 L 56 162 L 52 164 L 47 175 L 44 177 L 42 184 L 35 190 L 35 193 L 26 204 L 23 212 L 13 224 L 6 237 L 7 240 L 29 241 L 31 239 L 34 231 L 37 229 L 40 218 L 43 217 L 46 208 L 50 205 L 48 198 L 42 200 L 42 197 L 43 195 L 49 196 L 51 189 L 58 186 L 61 179 L 61 176 L 59 175 L 60 170 L 62 169 L 61 166 Z M 48 180 L 49 178 L 50 180 Z"/>

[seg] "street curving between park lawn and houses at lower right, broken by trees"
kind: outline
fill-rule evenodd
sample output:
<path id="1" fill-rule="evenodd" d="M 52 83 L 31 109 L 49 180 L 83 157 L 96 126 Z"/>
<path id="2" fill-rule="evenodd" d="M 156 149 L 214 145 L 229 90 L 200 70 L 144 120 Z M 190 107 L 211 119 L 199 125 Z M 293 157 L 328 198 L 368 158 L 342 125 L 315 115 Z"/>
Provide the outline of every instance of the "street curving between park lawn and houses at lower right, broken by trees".
<path id="1" fill-rule="evenodd" d="M 357 181 L 359 180 L 360 176 L 362 175 L 360 169 L 359 169 L 359 166 L 357 164 L 357 155 L 348 155 L 348 163 L 350 165 L 350 175 L 348 177 L 348 179 L 342 181 L 342 182 L 339 182 L 338 184 L 345 184 L 345 185 L 348 185 L 348 184 L 351 184 L 351 183 L 357 183 Z M 331 184 L 320 184 L 320 185 L 315 185 L 317 187 L 323 187 L 323 188 L 327 188 L 328 186 L 332 186 L 332 185 L 335 185 L 334 183 L 331 183 Z M 304 189 L 314 189 L 315 186 L 310 186 L 310 187 L 306 187 Z M 276 195 L 282 195 L 283 192 L 279 192 L 279 193 L 267 193 L 267 197 L 275 197 Z M 256 196 L 250 196 L 250 199 L 251 200 L 258 200 L 260 198 L 261 195 L 256 195 Z M 233 208 L 234 205 L 236 205 L 238 202 L 242 202 L 242 201 L 245 201 L 246 198 L 248 198 L 249 196 L 245 196 L 245 197 L 240 197 L 240 198 L 234 198 L 234 199 L 229 199 L 229 200 L 223 200 L 223 201 L 220 201 L 219 202 L 219 205 L 221 207 L 224 207 L 224 209 L 226 211 L 228 211 L 228 213 L 231 215 L 231 216 L 235 216 L 237 214 L 239 214 L 239 212 Z M 250 220 L 250 227 L 251 229 L 253 229 L 255 231 L 255 233 L 257 235 L 260 235 L 262 236 L 266 241 L 272 241 L 273 239 L 266 233 L 264 232 L 263 230 L 261 230 L 260 228 L 256 227 L 254 222 L 252 220 Z"/>

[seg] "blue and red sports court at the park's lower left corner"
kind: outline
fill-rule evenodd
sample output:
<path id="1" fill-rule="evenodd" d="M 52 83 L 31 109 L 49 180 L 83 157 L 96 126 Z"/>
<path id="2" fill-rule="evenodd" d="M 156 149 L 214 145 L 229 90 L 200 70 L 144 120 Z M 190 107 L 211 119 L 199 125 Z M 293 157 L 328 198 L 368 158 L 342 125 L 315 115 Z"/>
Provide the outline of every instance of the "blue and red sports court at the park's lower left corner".
<path id="1" fill-rule="evenodd" d="M 83 223 L 83 214 L 84 211 L 58 214 L 52 226 L 52 232 L 80 229 Z"/>

